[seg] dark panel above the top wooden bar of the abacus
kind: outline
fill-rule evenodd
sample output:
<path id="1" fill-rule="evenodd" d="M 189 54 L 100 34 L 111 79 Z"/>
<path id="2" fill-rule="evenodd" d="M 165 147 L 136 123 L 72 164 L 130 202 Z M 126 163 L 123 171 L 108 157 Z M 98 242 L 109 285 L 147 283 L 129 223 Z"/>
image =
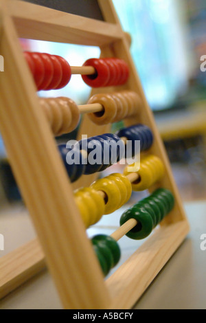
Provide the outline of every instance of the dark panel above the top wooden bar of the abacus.
<path id="1" fill-rule="evenodd" d="M 78 14 L 87 18 L 104 21 L 102 12 L 97 0 L 23 0 L 25 2 L 44 5 L 47 8 L 68 12 L 69 14 Z"/>

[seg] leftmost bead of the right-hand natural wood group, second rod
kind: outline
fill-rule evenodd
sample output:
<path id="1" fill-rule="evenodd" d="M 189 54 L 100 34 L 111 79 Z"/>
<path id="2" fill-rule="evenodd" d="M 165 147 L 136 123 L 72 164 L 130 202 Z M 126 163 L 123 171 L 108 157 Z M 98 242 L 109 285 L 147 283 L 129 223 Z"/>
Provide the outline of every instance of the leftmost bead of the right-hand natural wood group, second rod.
<path id="1" fill-rule="evenodd" d="M 92 96 L 88 104 L 100 103 L 103 110 L 97 113 L 88 113 L 89 119 L 95 124 L 103 125 L 112 123 L 117 115 L 117 104 L 109 94 L 99 93 Z"/>

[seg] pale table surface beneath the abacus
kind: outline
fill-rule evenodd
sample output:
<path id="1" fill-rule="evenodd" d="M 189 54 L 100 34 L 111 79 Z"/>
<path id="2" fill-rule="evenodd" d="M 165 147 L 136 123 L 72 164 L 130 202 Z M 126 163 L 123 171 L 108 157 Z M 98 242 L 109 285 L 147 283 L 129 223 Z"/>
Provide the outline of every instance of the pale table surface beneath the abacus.
<path id="1" fill-rule="evenodd" d="M 104 216 L 98 225 L 88 230 L 89 236 L 100 232 L 111 234 L 123 210 Z M 191 225 L 190 234 L 135 309 L 206 309 L 206 251 L 201 250 L 201 235 L 206 234 L 206 201 L 186 203 L 185 210 Z M 35 237 L 27 212 L 19 207 L 1 210 L 0 232 L 5 237 L 5 251 L 0 252 L 0 257 Z M 121 264 L 142 242 L 124 237 L 119 243 Z M 45 270 L 1 300 L 0 309 L 61 309 L 61 304 L 52 278 Z"/>

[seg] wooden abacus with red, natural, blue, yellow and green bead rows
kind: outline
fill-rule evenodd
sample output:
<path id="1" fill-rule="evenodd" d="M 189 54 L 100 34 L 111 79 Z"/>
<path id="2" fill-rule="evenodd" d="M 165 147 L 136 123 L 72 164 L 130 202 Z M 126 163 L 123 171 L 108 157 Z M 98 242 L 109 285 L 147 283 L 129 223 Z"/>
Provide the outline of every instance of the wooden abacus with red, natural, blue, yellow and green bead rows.
<path id="1" fill-rule="evenodd" d="M 38 234 L 35 241 L 1 258 L 1 297 L 40 271 L 46 262 L 65 309 L 133 307 L 189 230 L 168 157 L 130 56 L 128 35 L 111 0 L 98 3 L 104 21 L 23 1 L 0 1 L 0 52 L 5 58 L 0 79 L 0 128 Z M 50 54 L 23 54 L 19 37 L 96 45 L 101 58 L 89 60 L 84 67 L 69 67 L 63 58 L 51 59 Z M 35 63 L 37 60 L 41 63 Z M 56 77 L 52 78 L 54 69 Z M 39 99 L 36 95 L 38 89 L 65 86 L 76 73 L 83 74 L 83 80 L 93 87 L 87 105 L 77 107 L 69 98 Z M 140 170 L 130 173 L 125 168 L 124 175 L 98 179 L 98 172 L 110 166 L 111 160 L 95 172 L 69 168 L 54 135 L 74 129 L 80 113 L 84 117 L 79 138 L 81 134 L 98 136 L 100 144 L 105 134 L 122 143 L 129 137 L 140 140 L 144 151 Z M 124 120 L 124 129 L 112 135 L 111 122 L 118 120 Z M 145 189 L 150 196 L 124 212 L 119 230 L 110 237 L 88 239 L 85 229 L 89 225 L 120 208 L 132 190 Z M 159 223 L 137 252 L 105 280 L 119 260 L 119 238 L 124 234 L 144 238 Z"/>

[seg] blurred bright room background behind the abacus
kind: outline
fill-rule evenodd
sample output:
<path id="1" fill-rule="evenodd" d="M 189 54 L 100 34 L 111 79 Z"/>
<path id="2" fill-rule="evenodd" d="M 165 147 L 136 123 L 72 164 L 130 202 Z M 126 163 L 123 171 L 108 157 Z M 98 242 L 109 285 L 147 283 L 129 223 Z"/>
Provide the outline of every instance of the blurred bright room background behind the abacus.
<path id="1" fill-rule="evenodd" d="M 126 32 L 146 98 L 155 114 L 183 201 L 206 197 L 206 55 L 205 0 L 113 0 Z M 100 55 L 98 47 L 21 40 L 23 49 L 66 58 L 70 65 Z M 205 64 L 206 66 L 206 64 Z M 40 96 L 68 96 L 84 104 L 90 88 L 72 76 L 62 90 Z M 119 125 L 116 125 L 118 127 Z M 76 132 L 58 140 L 67 141 Z M 19 201 L 21 194 L 0 138 L 1 205 Z M 117 168 L 117 166 L 116 166 Z M 117 170 L 115 168 L 115 170 Z"/>

